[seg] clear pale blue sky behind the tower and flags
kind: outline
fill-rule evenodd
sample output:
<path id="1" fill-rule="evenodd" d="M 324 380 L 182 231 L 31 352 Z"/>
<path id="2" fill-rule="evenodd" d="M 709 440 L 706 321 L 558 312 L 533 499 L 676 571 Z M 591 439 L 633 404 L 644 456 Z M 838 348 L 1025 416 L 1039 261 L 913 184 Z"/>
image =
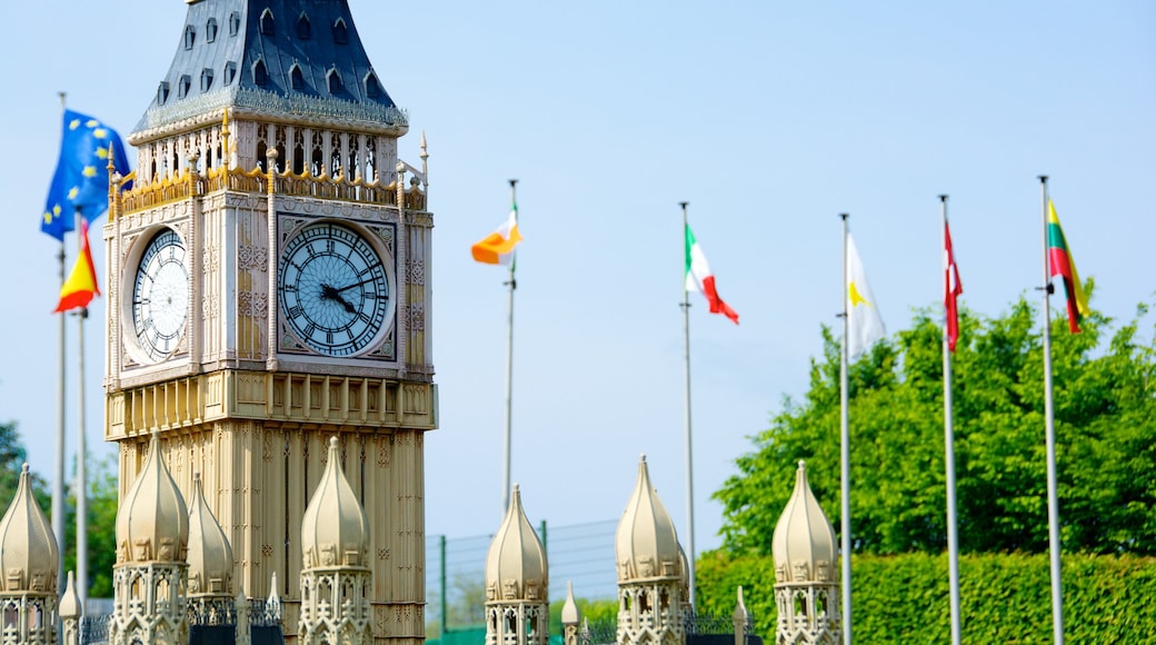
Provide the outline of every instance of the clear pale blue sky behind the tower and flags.
<path id="1" fill-rule="evenodd" d="M 1040 173 L 1096 279 L 1092 306 L 1127 319 L 1154 298 L 1156 3 L 350 3 L 383 83 L 409 110 L 401 156 L 418 162 L 418 133 L 429 140 L 442 403 L 427 439 L 430 534 L 490 533 L 501 519 L 505 276 L 468 247 L 505 216 L 509 178 L 520 179 L 526 238 L 513 479 L 534 522 L 618 517 L 645 452 L 684 531 L 679 201 L 742 317 L 735 327 L 701 299 L 691 310 L 699 550 L 719 543 L 711 492 L 783 396 L 805 391 L 820 326 L 836 322 L 838 213 L 852 214 L 890 331 L 940 299 L 940 193 L 951 195 L 965 305 L 998 316 L 1021 294 L 1035 299 Z M 57 91 L 127 135 L 185 10 L 179 0 L 0 6 L 0 420 L 18 422 L 46 477 L 59 279 L 57 244 L 37 222 Z M 87 336 L 97 455 L 110 452 L 103 306 Z"/>

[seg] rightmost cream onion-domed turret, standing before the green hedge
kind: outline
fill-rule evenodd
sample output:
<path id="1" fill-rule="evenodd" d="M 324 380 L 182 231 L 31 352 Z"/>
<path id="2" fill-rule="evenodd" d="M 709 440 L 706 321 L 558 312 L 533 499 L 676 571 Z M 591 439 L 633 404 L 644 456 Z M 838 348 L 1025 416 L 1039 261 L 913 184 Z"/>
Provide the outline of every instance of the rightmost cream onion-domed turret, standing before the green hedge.
<path id="1" fill-rule="evenodd" d="M 771 554 L 779 615 L 776 643 L 840 643 L 835 528 L 807 483 L 802 461 L 794 491 L 775 526 Z"/>

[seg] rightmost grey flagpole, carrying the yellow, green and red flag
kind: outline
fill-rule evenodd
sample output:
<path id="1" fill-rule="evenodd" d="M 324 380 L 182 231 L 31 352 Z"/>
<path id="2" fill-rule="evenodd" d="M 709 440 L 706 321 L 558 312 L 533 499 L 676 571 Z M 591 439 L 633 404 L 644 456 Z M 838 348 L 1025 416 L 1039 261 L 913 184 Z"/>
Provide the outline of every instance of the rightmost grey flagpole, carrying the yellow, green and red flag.
<path id="1" fill-rule="evenodd" d="M 1055 409 L 1052 402 L 1052 276 L 1047 264 L 1047 176 L 1039 176 L 1044 218 L 1044 429 L 1047 447 L 1047 547 L 1052 564 L 1052 642 L 1064 645 L 1064 591 L 1060 580 L 1060 501 L 1055 483 Z"/>

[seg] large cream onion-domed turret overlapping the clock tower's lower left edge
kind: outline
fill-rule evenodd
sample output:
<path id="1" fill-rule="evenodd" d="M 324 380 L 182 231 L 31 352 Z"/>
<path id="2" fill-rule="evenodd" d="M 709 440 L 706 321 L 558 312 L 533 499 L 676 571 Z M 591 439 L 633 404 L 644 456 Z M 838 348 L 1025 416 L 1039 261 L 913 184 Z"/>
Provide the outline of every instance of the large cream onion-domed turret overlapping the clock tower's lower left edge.
<path id="1" fill-rule="evenodd" d="M 112 645 L 188 643 L 188 511 L 160 445 L 153 435 L 144 465 L 117 510 Z"/>

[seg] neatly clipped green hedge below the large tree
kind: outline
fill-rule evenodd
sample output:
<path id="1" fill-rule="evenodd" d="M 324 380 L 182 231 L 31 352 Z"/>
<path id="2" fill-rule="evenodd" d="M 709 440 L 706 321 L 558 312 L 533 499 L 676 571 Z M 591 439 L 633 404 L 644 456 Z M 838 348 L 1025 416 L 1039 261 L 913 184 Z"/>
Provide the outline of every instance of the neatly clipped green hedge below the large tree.
<path id="1" fill-rule="evenodd" d="M 1051 643 L 1048 556 L 959 558 L 963 643 Z M 1064 635 L 1070 643 L 1156 643 L 1156 558 L 1064 555 Z M 742 585 L 756 632 L 773 643 L 775 564 L 704 554 L 698 608 L 734 610 Z M 855 556 L 852 609 L 859 643 L 950 643 L 947 555 Z"/>

